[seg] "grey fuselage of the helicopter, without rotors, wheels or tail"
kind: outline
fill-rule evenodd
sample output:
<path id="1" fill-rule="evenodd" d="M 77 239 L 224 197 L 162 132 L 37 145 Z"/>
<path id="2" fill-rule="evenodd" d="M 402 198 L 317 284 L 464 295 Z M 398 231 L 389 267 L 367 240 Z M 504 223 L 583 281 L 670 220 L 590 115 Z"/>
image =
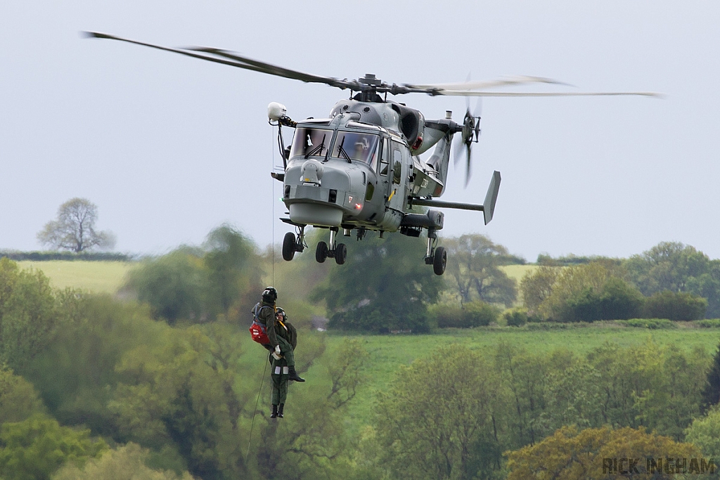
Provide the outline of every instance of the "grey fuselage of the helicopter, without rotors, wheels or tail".
<path id="1" fill-rule="evenodd" d="M 330 119 L 297 123 L 284 173 L 283 201 L 290 222 L 395 232 L 413 212 L 411 198 L 439 196 L 449 145 L 440 171 L 423 163 L 413 155 L 407 137 L 397 131 L 402 113 L 407 118 L 417 112 L 404 109 L 397 112 L 388 104 L 347 100 L 336 104 Z M 418 127 L 423 127 L 424 119 L 417 114 L 410 134 L 420 147 L 423 130 Z M 434 227 L 442 228 L 441 221 Z"/>

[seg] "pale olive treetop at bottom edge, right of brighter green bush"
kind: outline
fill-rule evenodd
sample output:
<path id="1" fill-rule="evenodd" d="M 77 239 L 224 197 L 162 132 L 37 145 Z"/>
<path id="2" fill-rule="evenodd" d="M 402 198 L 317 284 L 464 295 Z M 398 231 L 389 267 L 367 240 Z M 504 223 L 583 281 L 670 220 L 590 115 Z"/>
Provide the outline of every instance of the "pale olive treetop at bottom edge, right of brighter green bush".
<path id="1" fill-rule="evenodd" d="M 137 443 L 128 443 L 108 450 L 100 458 L 91 458 L 82 468 L 66 463 L 53 475 L 53 480 L 192 480 L 184 471 L 182 475 L 171 470 L 153 470 L 145 462 L 149 450 Z"/>

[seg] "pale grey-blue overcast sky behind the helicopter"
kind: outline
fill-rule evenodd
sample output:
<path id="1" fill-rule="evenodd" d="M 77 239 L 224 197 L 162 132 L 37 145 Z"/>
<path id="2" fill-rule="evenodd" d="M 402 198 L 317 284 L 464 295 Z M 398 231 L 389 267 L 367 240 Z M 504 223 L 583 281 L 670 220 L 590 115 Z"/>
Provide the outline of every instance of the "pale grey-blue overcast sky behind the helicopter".
<path id="1" fill-rule="evenodd" d="M 120 252 L 199 245 L 225 222 L 261 248 L 280 243 L 267 105 L 320 118 L 347 95 L 78 35 L 92 30 L 337 78 L 534 75 L 572 85 L 541 91 L 660 92 L 472 99 L 472 178 L 464 188 L 451 168 L 442 199 L 482 202 L 498 170 L 495 218 L 446 209 L 442 234 L 481 233 L 528 261 L 627 257 L 662 241 L 720 258 L 719 24 L 714 1 L 3 1 L 0 250 L 39 250 L 37 232 L 77 196 L 97 205 Z M 466 109 L 462 98 L 395 100 L 428 119 Z"/>

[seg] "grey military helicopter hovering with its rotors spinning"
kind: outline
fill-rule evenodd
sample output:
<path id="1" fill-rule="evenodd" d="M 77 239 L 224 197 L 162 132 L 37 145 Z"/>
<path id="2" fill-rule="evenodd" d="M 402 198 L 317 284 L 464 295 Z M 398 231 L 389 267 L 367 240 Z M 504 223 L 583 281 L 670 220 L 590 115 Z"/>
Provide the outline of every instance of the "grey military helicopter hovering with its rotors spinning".
<path id="1" fill-rule="evenodd" d="M 172 48 L 138 42 L 99 32 L 83 32 L 91 38 L 120 40 L 200 60 L 222 63 L 236 68 L 300 80 L 324 83 L 349 90 L 348 99 L 338 101 L 326 118 L 309 118 L 300 122 L 287 115 L 284 105 L 271 102 L 268 121 L 278 128 L 278 145 L 283 163 L 282 173 L 271 176 L 283 184 L 282 201 L 287 217 L 282 222 L 295 227 L 282 243 L 282 256 L 292 261 L 295 253 L 307 248 L 305 228 L 329 230 L 328 242 L 318 242 L 315 260 L 334 258 L 338 265 L 346 261 L 347 248 L 338 242 L 338 234 L 349 237 L 356 231 L 362 240 L 369 231 L 400 232 L 420 237 L 427 230 L 427 248 L 423 261 L 442 275 L 447 251 L 438 246 L 438 230 L 444 225 L 444 214 L 437 209 L 465 209 L 482 212 L 485 225 L 492 220 L 500 190 L 500 172 L 492 173 L 490 186 L 482 204 L 441 201 L 453 137 L 459 134 L 459 149 L 466 157 L 466 186 L 470 174 L 472 144 L 480 137 L 480 115 L 469 108 L 462 122 L 455 122 L 446 111 L 441 119 L 426 119 L 417 109 L 387 99 L 402 94 L 431 96 L 659 96 L 653 92 L 507 92 L 488 91 L 499 86 L 526 83 L 559 83 L 550 78 L 516 76 L 498 81 L 462 83 L 386 83 L 372 73 L 356 80 L 339 79 L 303 73 L 212 47 Z M 284 145 L 282 127 L 294 129 L 292 145 Z M 433 151 L 427 160 L 420 155 Z M 459 156 L 456 154 L 456 159 Z"/>

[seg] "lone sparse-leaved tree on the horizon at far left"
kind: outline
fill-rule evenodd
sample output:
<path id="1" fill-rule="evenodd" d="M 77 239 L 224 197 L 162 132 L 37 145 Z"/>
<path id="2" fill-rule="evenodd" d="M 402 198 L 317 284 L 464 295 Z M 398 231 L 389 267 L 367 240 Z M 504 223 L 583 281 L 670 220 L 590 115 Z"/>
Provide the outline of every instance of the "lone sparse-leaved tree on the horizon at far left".
<path id="1" fill-rule="evenodd" d="M 80 253 L 94 247 L 112 249 L 115 237 L 111 232 L 96 232 L 97 207 L 88 199 L 74 198 L 58 208 L 58 219 L 52 220 L 37 233 L 42 245 Z"/>

